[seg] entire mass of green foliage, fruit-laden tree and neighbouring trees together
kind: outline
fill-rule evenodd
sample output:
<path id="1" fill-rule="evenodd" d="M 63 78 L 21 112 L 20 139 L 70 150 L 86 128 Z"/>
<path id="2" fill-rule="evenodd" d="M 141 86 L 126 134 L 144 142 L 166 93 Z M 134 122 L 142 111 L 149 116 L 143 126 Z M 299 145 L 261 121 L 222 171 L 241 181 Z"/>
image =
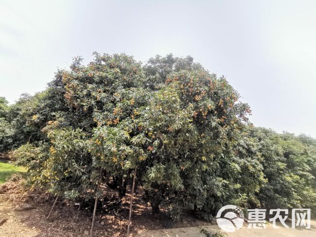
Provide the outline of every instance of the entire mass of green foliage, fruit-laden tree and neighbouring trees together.
<path id="1" fill-rule="evenodd" d="M 237 91 L 191 57 L 94 55 L 35 96 L 0 101 L 0 150 L 16 149 L 33 186 L 78 200 L 107 183 L 123 197 L 137 168 L 153 213 L 174 220 L 228 203 L 315 206 L 315 139 L 253 127 Z"/>

